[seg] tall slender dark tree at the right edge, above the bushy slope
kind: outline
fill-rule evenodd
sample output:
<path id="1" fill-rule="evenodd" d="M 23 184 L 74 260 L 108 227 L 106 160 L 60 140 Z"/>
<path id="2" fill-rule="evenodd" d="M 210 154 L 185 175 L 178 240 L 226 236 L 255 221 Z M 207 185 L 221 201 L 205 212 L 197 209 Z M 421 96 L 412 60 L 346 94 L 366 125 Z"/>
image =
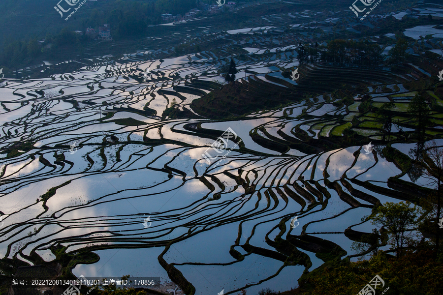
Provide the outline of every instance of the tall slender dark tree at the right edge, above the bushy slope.
<path id="1" fill-rule="evenodd" d="M 423 152 L 423 164 L 425 169 L 423 170 L 423 177 L 430 179 L 432 183 L 437 185 L 437 216 L 436 216 L 436 249 L 439 251 L 439 228 L 438 223 L 440 221 L 441 213 L 441 198 L 442 198 L 442 180 L 443 180 L 443 148 L 437 146 L 436 141 L 431 141 L 426 144 Z M 435 203 L 434 203 L 435 204 Z"/>

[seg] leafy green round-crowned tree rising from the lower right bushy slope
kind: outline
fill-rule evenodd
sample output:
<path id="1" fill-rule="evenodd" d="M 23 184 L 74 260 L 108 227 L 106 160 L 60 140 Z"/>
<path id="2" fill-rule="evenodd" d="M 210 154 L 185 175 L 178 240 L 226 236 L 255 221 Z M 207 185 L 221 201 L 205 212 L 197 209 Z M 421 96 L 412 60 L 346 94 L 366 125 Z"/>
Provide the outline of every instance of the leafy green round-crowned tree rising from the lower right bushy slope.
<path id="1" fill-rule="evenodd" d="M 387 230 L 390 243 L 397 252 L 397 259 L 400 257 L 403 246 L 410 242 L 411 235 L 407 231 L 416 224 L 417 209 L 416 206 L 410 207 L 410 204 L 408 201 L 406 204 L 386 202 L 369 216 L 372 224 L 382 226 Z"/>

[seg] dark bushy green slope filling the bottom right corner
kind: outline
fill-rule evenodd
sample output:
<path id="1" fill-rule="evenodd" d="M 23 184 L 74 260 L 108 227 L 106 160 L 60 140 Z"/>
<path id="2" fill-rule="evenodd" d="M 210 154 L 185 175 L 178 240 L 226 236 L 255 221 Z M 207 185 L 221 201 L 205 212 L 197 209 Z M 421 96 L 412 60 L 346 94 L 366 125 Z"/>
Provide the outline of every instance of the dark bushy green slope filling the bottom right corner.
<path id="1" fill-rule="evenodd" d="M 380 291 L 377 288 L 377 294 L 385 290 L 386 294 L 442 294 L 440 273 L 443 264 L 441 259 L 433 257 L 432 251 L 411 252 L 399 260 L 380 253 L 369 261 L 344 262 L 332 267 L 324 265 L 303 274 L 300 287 L 283 295 L 357 294 L 375 274 L 385 282 L 383 288 L 379 286 Z"/>

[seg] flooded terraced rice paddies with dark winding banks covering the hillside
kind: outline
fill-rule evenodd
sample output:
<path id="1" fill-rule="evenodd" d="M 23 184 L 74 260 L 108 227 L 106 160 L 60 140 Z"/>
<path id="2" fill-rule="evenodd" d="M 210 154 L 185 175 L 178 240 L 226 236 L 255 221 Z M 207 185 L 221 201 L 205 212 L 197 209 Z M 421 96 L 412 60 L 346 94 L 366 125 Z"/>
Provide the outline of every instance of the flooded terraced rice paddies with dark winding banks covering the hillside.
<path id="1" fill-rule="evenodd" d="M 349 236 L 374 227 L 362 217 L 379 203 L 412 200 L 390 177 L 411 179 L 380 155 L 382 147 L 367 153 L 363 145 L 334 146 L 347 130 L 366 137 L 365 144 L 380 139 L 380 124 L 374 110 L 316 84 L 330 73 L 354 86 L 342 89 L 346 95 L 368 94 L 371 101 L 412 96 L 404 84 L 415 78 L 317 63 L 305 65 L 294 83 L 282 69 L 298 65 L 295 47 L 260 35 L 278 29 L 206 39 L 239 45 L 245 39 L 237 36 L 251 33 L 244 50 L 251 54 L 247 46 L 256 42 L 266 50 L 245 59 L 235 55 L 238 47 L 222 45 L 167 59 L 128 54 L 50 78 L 3 81 L 0 257 L 34 265 L 35 254 L 54 260 L 57 245 L 66 253 L 90 247 L 100 261 L 75 266 L 76 276 L 160 277 L 163 287 L 179 281 L 195 294 L 290 290 L 304 270 L 355 260 Z M 284 93 L 291 101 L 229 119 L 210 119 L 209 106 L 195 111 L 194 100 L 221 87 L 231 55 L 245 97 Z M 403 116 L 408 104 L 395 105 Z M 173 109 L 187 117 L 170 118 L 165 111 Z M 441 114 L 433 117 L 441 124 Z M 395 118 L 414 130 L 409 117 Z M 232 150 L 208 163 L 205 151 L 228 128 Z M 443 129 L 427 132 L 441 136 Z M 413 147 L 394 148 L 407 154 Z M 291 228 L 296 216 L 300 225 Z"/>

